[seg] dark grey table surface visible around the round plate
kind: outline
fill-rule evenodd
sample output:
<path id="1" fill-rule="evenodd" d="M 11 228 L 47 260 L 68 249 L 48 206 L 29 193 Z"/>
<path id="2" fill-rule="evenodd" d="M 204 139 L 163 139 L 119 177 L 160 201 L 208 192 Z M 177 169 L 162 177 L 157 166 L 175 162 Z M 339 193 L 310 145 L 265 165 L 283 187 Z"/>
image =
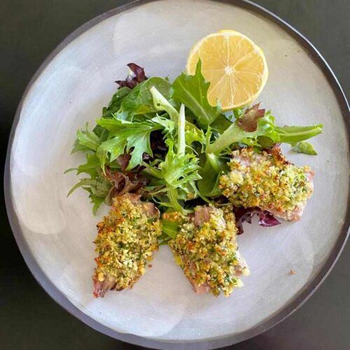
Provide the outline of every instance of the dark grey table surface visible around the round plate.
<path id="1" fill-rule="evenodd" d="M 5 160 L 15 109 L 43 59 L 71 31 L 120 0 L 0 1 L 0 148 Z M 350 1 L 255 0 L 318 48 L 350 97 Z M 2 162 L 3 163 L 3 162 Z M 2 172 L 1 172 L 2 173 Z M 1 198 L 3 198 L 1 188 Z M 137 349 L 78 321 L 45 294 L 15 244 L 0 202 L 0 349 Z M 318 219 L 318 218 L 317 218 Z M 350 244 L 304 306 L 231 349 L 350 349 Z"/>

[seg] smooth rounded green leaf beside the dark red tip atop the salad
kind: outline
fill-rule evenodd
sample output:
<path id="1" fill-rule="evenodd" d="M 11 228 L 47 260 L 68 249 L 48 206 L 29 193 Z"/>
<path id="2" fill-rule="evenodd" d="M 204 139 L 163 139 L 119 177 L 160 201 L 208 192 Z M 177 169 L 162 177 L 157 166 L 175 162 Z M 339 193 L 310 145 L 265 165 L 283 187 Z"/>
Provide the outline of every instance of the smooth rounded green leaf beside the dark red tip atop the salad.
<path id="1" fill-rule="evenodd" d="M 168 80 L 154 76 L 134 87 L 130 94 L 123 99 L 116 118 L 132 121 L 138 114 L 147 114 L 158 111 L 153 104 L 151 87 L 155 87 L 166 98 L 171 99 L 173 94 L 172 84 Z"/>

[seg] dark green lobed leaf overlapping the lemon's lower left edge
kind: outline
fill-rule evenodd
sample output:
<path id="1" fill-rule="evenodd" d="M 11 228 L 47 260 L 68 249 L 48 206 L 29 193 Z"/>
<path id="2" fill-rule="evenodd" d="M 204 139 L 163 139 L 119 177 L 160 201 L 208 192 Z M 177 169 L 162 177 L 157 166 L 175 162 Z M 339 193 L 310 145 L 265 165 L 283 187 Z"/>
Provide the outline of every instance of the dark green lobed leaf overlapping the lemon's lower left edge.
<path id="1" fill-rule="evenodd" d="M 190 109 L 201 127 L 207 126 L 218 118 L 221 106 L 211 106 L 208 102 L 207 93 L 210 83 L 204 79 L 201 72 L 202 63 L 197 63 L 194 76 L 182 73 L 173 83 L 174 99 L 178 99 Z"/>

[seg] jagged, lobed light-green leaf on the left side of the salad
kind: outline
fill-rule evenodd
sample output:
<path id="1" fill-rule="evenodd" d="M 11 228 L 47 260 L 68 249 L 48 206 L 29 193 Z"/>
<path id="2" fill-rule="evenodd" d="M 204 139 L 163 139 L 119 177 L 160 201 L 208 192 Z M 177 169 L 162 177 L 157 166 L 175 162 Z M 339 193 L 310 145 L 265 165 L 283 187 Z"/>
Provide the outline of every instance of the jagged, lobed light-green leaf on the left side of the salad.
<path id="1" fill-rule="evenodd" d="M 130 152 L 131 155 L 126 170 L 141 165 L 144 153 L 153 156 L 150 141 L 151 132 L 162 129 L 162 125 L 155 123 L 154 120 L 132 123 L 127 120 L 102 118 L 97 120 L 97 124 L 109 131 L 109 139 L 97 148 L 97 157 L 102 169 L 104 169 L 106 160 L 113 162 L 125 152 Z"/>

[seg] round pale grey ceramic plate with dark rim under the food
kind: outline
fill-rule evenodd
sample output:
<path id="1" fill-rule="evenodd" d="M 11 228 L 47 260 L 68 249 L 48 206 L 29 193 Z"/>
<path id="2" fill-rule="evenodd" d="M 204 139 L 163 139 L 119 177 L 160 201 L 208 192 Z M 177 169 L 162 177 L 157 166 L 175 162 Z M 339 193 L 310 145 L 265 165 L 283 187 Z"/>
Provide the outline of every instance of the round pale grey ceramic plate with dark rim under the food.
<path id="1" fill-rule="evenodd" d="M 83 190 L 69 198 L 80 155 L 76 130 L 94 123 L 125 77 L 125 64 L 174 78 L 190 47 L 218 29 L 246 34 L 265 52 L 269 80 L 260 96 L 281 125 L 323 123 L 318 156 L 295 155 L 314 169 L 314 196 L 302 221 L 246 227 L 241 253 L 251 267 L 231 297 L 196 295 L 167 246 L 132 290 L 92 297 L 95 225 Z M 6 164 L 8 215 L 39 283 L 71 314 L 101 332 L 162 349 L 224 346 L 267 330 L 323 281 L 349 226 L 349 107 L 316 49 L 293 28 L 246 1 L 137 1 L 87 22 L 64 40 L 29 83 L 15 117 Z M 347 124 L 349 127 L 349 123 Z M 106 208 L 104 209 L 106 212 Z M 290 274 L 294 269 L 295 274 Z"/>

